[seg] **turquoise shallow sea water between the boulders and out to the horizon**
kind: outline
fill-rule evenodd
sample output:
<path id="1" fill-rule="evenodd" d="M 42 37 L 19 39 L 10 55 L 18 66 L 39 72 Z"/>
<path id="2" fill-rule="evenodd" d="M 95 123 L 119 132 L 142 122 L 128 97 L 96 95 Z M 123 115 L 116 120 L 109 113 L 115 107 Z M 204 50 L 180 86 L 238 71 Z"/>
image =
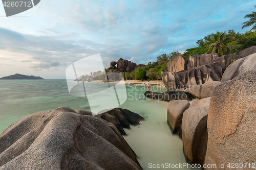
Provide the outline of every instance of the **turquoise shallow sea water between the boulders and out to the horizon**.
<path id="1" fill-rule="evenodd" d="M 102 84 L 93 85 L 100 90 Z M 148 167 L 149 163 L 184 163 L 182 140 L 172 135 L 166 123 L 168 103 L 144 99 L 145 86 L 126 85 L 126 90 L 127 100 L 120 108 L 139 113 L 146 119 L 139 126 L 132 126 L 131 130 L 124 129 L 127 133 L 124 138 L 138 155 L 143 169 L 152 169 Z M 151 91 L 164 90 L 151 87 Z M 69 94 L 66 80 L 0 80 L 0 132 L 18 118 L 59 106 L 90 110 L 86 97 Z"/>

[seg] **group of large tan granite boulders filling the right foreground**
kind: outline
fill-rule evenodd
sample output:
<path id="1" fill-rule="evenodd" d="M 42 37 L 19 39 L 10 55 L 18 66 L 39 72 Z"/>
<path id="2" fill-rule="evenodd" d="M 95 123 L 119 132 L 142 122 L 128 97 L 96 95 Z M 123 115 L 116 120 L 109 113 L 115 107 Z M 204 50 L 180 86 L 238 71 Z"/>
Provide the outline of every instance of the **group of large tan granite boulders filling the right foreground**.
<path id="1" fill-rule="evenodd" d="M 241 162 L 251 165 L 256 162 L 256 46 L 219 57 L 211 64 L 221 67 L 215 69 L 218 76 L 222 75 L 220 80 L 183 90 L 197 99 L 170 101 L 167 124 L 172 133 L 182 138 L 184 155 L 190 164 L 217 165 L 204 169 L 229 169 L 229 163 L 230 167 L 231 163 Z M 245 164 L 241 166 L 251 169 Z"/>

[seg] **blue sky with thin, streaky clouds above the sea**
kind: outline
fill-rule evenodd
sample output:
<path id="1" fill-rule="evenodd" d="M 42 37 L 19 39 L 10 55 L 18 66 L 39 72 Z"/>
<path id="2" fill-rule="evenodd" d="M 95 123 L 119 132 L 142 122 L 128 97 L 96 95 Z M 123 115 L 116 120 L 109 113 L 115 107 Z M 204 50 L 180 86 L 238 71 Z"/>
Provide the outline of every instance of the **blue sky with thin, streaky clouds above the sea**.
<path id="1" fill-rule="evenodd" d="M 72 63 L 100 53 L 105 68 L 119 58 L 136 64 L 196 47 L 217 31 L 242 29 L 255 1 L 41 0 L 6 17 L 0 5 L 0 78 L 66 79 Z M 103 69 L 102 69 L 103 70 Z"/>

